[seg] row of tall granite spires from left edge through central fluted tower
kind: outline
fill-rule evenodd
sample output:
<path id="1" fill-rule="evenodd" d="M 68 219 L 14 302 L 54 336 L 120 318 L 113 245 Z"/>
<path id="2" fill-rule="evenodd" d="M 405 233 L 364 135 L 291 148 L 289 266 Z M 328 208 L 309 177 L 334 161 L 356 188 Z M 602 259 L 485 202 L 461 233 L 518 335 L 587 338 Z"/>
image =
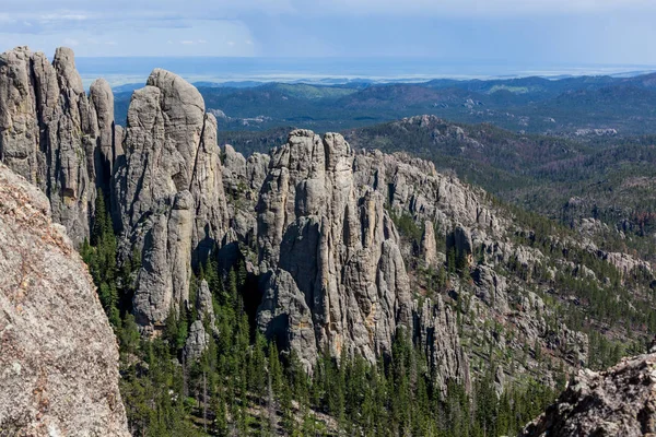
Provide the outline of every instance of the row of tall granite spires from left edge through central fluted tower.
<path id="1" fill-rule="evenodd" d="M 454 376 L 468 380 L 457 335 L 445 343 L 435 332 L 454 331 L 449 310 L 412 302 L 385 206 L 408 206 L 399 203 L 407 193 L 388 188 L 407 189 L 395 181 L 405 176 L 389 168 L 394 160 L 356 154 L 339 134 L 297 130 L 271 156 L 245 160 L 226 147 L 223 169 L 216 120 L 192 85 L 154 70 L 132 96 L 124 132 L 107 83 L 94 82 L 87 96 L 69 49 L 52 63 L 27 48 L 2 55 L 0 86 L 0 160 L 48 196 L 74 244 L 90 236 L 96 190 L 112 199 L 121 253 L 141 253 L 133 311 L 144 333 L 194 305 L 191 269 L 212 250 L 255 245 L 249 272 L 263 296 L 257 322 L 296 349 L 308 369 L 326 347 L 373 362 L 402 326 L 435 356 L 457 361 Z M 229 205 L 231 193 L 239 202 Z M 434 215 L 433 199 L 420 201 L 413 208 Z M 196 328 L 201 341 L 202 324 Z"/>

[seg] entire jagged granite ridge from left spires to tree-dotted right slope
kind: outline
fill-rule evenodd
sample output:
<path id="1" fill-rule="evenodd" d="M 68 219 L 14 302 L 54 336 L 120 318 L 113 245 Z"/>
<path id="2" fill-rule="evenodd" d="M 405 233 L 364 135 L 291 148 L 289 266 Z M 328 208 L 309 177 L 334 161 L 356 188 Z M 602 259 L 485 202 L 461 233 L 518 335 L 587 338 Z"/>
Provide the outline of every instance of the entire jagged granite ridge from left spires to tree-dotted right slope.
<path id="1" fill-rule="evenodd" d="M 403 327 L 443 391 L 450 379 L 469 387 L 469 374 L 485 371 L 493 353 L 507 357 L 495 369 L 499 391 L 524 376 L 553 381 L 537 347 L 565 371 L 586 363 L 586 335 L 555 317 L 544 296 L 570 302 L 559 296 L 563 272 L 599 287 L 606 277 L 559 253 L 583 250 L 626 277 L 651 273 L 648 263 L 585 238 L 540 247 L 534 229 L 482 190 L 407 154 L 354 151 L 339 134 L 295 130 L 283 146 L 247 158 L 230 145 L 220 151 L 201 95 L 164 70 L 133 94 L 125 131 L 114 123 L 108 84 L 96 81 L 87 97 L 70 50 L 58 50 L 51 66 L 10 51 L 0 85 L 0 158 L 48 194 L 75 241 L 89 235 L 96 187 L 109 196 L 119 262 L 141 258 L 137 321 L 156 333 L 169 314 L 196 306 L 189 357 L 216 334 L 207 283 L 189 302 L 191 271 L 208 257 L 222 273 L 245 267 L 250 320 L 307 369 L 324 350 L 374 362 Z M 400 126 L 417 123 L 434 126 L 435 141 L 480 145 L 432 118 Z"/>

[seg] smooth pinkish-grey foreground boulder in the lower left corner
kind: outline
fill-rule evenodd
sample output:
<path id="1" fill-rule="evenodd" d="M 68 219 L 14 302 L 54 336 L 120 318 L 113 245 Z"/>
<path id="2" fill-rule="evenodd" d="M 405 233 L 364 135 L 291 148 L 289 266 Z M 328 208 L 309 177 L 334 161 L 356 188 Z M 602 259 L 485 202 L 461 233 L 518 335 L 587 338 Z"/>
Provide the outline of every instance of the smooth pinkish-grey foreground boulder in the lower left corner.
<path id="1" fill-rule="evenodd" d="M 48 199 L 1 163 L 0 351 L 0 434 L 129 436 L 86 265 Z"/>

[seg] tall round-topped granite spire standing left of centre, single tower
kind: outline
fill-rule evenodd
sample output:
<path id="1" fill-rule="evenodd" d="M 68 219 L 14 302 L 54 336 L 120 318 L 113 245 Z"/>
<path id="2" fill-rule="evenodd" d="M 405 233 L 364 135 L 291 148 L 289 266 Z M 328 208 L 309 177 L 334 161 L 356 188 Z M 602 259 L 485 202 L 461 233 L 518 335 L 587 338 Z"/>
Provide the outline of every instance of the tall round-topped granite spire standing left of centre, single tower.
<path id="1" fill-rule="evenodd" d="M 227 226 L 216 120 L 181 78 L 154 70 L 132 96 L 117 164 L 117 221 L 142 268 L 134 295 L 147 328 L 178 311 L 189 297 L 191 262 L 202 261 Z"/>

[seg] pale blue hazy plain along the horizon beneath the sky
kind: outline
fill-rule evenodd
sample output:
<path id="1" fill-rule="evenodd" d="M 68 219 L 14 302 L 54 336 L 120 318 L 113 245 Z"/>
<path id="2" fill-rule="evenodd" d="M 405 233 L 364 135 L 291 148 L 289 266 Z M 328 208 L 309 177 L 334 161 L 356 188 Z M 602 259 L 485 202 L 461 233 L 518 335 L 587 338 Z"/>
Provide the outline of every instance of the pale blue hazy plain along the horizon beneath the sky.
<path id="1" fill-rule="evenodd" d="M 51 56 L 51 55 L 49 55 Z M 190 82 L 304 82 L 338 84 L 352 81 L 425 82 L 434 79 L 508 79 L 579 75 L 636 75 L 656 71 L 647 64 L 511 64 L 500 60 L 426 59 L 413 57 L 77 57 L 89 85 L 97 78 L 112 86 L 143 83 L 154 68 L 174 71 Z"/>

